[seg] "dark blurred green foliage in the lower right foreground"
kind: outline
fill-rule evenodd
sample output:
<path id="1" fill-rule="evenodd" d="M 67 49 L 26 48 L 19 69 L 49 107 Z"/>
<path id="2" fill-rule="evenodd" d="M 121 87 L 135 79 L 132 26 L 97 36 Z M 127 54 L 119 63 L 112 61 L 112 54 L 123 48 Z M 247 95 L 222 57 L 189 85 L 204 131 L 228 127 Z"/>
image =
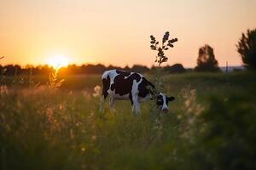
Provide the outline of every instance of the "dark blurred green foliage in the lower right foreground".
<path id="1" fill-rule="evenodd" d="M 199 144 L 205 162 L 217 169 L 255 169 L 256 114 L 251 95 L 213 95 L 201 114 L 204 130 Z M 200 151 L 199 151 L 200 152 Z M 204 155 L 205 153 L 200 153 Z M 202 156 L 203 157 L 203 156 Z"/>

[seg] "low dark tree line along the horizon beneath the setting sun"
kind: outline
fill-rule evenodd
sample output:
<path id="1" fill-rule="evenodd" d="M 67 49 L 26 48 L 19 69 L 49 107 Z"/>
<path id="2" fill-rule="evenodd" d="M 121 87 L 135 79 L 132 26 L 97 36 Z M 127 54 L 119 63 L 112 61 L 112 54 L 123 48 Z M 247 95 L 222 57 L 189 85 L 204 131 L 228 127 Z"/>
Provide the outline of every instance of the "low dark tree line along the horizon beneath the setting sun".
<path id="1" fill-rule="evenodd" d="M 133 65 L 129 67 L 126 65 L 125 67 L 114 66 L 114 65 L 68 65 L 67 67 L 61 67 L 58 72 L 63 75 L 79 75 L 79 74 L 102 74 L 102 72 L 112 69 L 118 69 L 123 71 L 135 71 L 140 73 L 145 73 L 149 71 L 153 71 L 155 69 L 154 66 L 148 68 L 145 65 Z M 163 67 L 164 71 L 167 73 L 183 73 L 187 71 L 183 65 L 175 64 L 175 65 L 166 65 Z M 1 75 L 4 76 L 15 76 L 15 75 L 47 75 L 49 72 L 54 71 L 55 69 L 49 65 L 26 65 L 22 68 L 20 65 L 0 65 Z"/>

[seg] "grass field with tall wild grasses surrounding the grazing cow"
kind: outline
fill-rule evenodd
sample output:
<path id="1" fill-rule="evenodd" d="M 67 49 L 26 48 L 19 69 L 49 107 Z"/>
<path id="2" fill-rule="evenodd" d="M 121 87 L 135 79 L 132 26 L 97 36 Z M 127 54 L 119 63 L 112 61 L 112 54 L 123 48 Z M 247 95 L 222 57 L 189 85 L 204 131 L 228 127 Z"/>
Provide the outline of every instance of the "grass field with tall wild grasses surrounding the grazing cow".
<path id="1" fill-rule="evenodd" d="M 140 116 L 128 101 L 99 112 L 100 76 L 63 77 L 58 89 L 5 77 L 0 169 L 255 169 L 255 75 L 166 76 L 170 112 L 147 101 Z"/>

